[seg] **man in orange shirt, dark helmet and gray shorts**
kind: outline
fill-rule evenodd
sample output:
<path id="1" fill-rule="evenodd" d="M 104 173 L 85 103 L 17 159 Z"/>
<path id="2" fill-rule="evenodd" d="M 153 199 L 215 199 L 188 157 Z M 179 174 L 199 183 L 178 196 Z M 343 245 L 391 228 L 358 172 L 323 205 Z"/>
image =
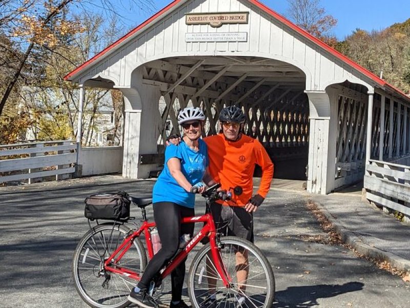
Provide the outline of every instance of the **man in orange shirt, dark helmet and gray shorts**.
<path id="1" fill-rule="evenodd" d="M 220 132 L 203 140 L 208 146 L 209 171 L 212 178 L 221 183 L 221 189 L 232 194 L 229 201 L 219 200 L 211 204 L 216 226 L 218 228 L 228 224 L 227 228 L 219 232 L 253 242 L 253 213 L 268 194 L 274 167 L 262 144 L 242 134 L 245 119 L 242 109 L 237 106 L 223 108 L 219 114 Z M 171 142 L 177 142 L 177 139 Z M 256 164 L 262 169 L 262 177 L 259 188 L 253 195 L 253 173 Z M 238 268 L 247 268 L 247 253 L 236 253 L 236 265 Z M 247 269 L 237 271 L 238 284 L 242 292 L 245 291 L 244 284 L 247 278 Z M 209 278 L 208 282 L 212 299 L 215 297 L 212 294 L 215 280 Z"/>

